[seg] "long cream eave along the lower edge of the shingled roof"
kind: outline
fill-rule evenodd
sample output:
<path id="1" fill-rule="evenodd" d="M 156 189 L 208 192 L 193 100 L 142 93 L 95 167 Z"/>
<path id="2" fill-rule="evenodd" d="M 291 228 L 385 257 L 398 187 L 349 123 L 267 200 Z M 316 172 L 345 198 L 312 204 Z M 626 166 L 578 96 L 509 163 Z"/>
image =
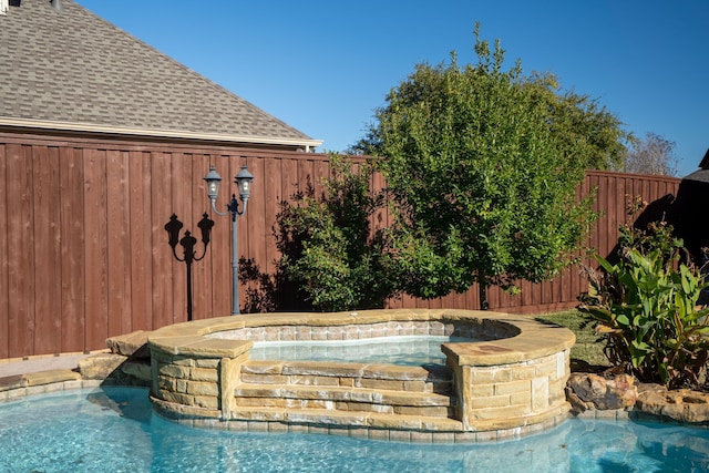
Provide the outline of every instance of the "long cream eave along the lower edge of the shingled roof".
<path id="1" fill-rule="evenodd" d="M 232 135 L 222 133 L 196 133 L 184 130 L 150 130 L 125 126 L 96 125 L 91 123 L 55 122 L 48 120 L 14 119 L 0 116 L 0 126 L 17 128 L 39 128 L 56 130 L 74 133 L 102 133 L 113 135 L 163 137 L 179 140 L 199 140 L 220 143 L 234 143 L 246 145 L 286 146 L 304 148 L 309 152 L 311 148 L 322 145 L 322 140 L 291 138 L 291 137 L 269 137 L 251 135 Z"/>

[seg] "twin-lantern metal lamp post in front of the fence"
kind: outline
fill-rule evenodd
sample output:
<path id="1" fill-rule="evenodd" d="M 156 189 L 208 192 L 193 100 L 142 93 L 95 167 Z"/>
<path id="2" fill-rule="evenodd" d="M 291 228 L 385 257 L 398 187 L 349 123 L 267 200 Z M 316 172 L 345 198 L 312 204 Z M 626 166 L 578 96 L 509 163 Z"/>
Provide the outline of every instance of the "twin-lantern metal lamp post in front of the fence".
<path id="1" fill-rule="evenodd" d="M 214 165 L 209 166 L 209 172 L 204 179 L 207 182 L 207 196 L 212 202 L 212 209 L 217 215 L 232 214 L 232 315 L 237 316 L 239 313 L 239 276 L 238 276 L 238 253 L 237 253 L 237 233 L 236 233 L 236 217 L 246 213 L 246 204 L 251 195 L 251 182 L 254 176 L 248 172 L 246 165 L 242 166 L 242 171 L 236 175 L 234 182 L 239 189 L 239 198 L 242 199 L 242 209 L 239 210 L 239 203 L 236 199 L 236 194 L 232 194 L 232 200 L 226 205 L 227 212 L 218 212 L 216 207 L 217 196 L 219 195 L 219 184 L 222 183 L 222 176 L 217 174 Z"/>

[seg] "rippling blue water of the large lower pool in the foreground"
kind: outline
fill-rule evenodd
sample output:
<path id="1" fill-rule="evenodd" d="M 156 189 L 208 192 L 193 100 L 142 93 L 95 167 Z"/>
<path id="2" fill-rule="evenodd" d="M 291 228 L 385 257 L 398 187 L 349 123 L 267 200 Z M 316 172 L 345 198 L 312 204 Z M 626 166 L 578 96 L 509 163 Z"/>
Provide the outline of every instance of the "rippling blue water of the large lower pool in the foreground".
<path id="1" fill-rule="evenodd" d="M 103 388 L 0 403 L 0 472 L 703 472 L 709 430 L 572 419 L 518 440 L 419 444 L 194 429 L 147 390 Z"/>

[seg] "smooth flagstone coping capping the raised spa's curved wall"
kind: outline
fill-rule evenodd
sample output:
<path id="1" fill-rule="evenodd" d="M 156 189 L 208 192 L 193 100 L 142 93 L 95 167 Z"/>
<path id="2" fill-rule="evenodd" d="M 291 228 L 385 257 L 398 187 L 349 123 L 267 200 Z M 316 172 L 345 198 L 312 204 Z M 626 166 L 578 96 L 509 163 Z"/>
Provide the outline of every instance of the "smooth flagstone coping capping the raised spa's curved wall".
<path id="1" fill-rule="evenodd" d="M 452 309 L 390 309 L 331 313 L 282 312 L 253 313 L 175 323 L 148 336 L 152 349 L 172 354 L 207 354 L 238 357 L 247 352 L 251 340 L 209 338 L 255 327 L 327 327 L 372 325 L 403 321 L 469 321 L 480 323 L 482 331 L 495 329 L 505 338 L 484 342 L 444 345 L 443 350 L 458 364 L 495 366 L 520 362 L 571 349 L 576 339 L 563 327 L 542 323 L 531 317 L 502 312 Z"/>

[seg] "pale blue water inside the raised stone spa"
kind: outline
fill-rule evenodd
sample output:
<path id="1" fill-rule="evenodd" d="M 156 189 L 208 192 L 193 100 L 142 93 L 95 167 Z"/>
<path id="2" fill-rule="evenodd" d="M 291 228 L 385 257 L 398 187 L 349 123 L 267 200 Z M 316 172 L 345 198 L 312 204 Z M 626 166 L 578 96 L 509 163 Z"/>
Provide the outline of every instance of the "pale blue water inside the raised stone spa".
<path id="1" fill-rule="evenodd" d="M 398 336 L 360 340 L 257 341 L 253 360 L 357 361 L 403 366 L 445 364 L 441 343 L 475 341 L 445 336 Z"/>

